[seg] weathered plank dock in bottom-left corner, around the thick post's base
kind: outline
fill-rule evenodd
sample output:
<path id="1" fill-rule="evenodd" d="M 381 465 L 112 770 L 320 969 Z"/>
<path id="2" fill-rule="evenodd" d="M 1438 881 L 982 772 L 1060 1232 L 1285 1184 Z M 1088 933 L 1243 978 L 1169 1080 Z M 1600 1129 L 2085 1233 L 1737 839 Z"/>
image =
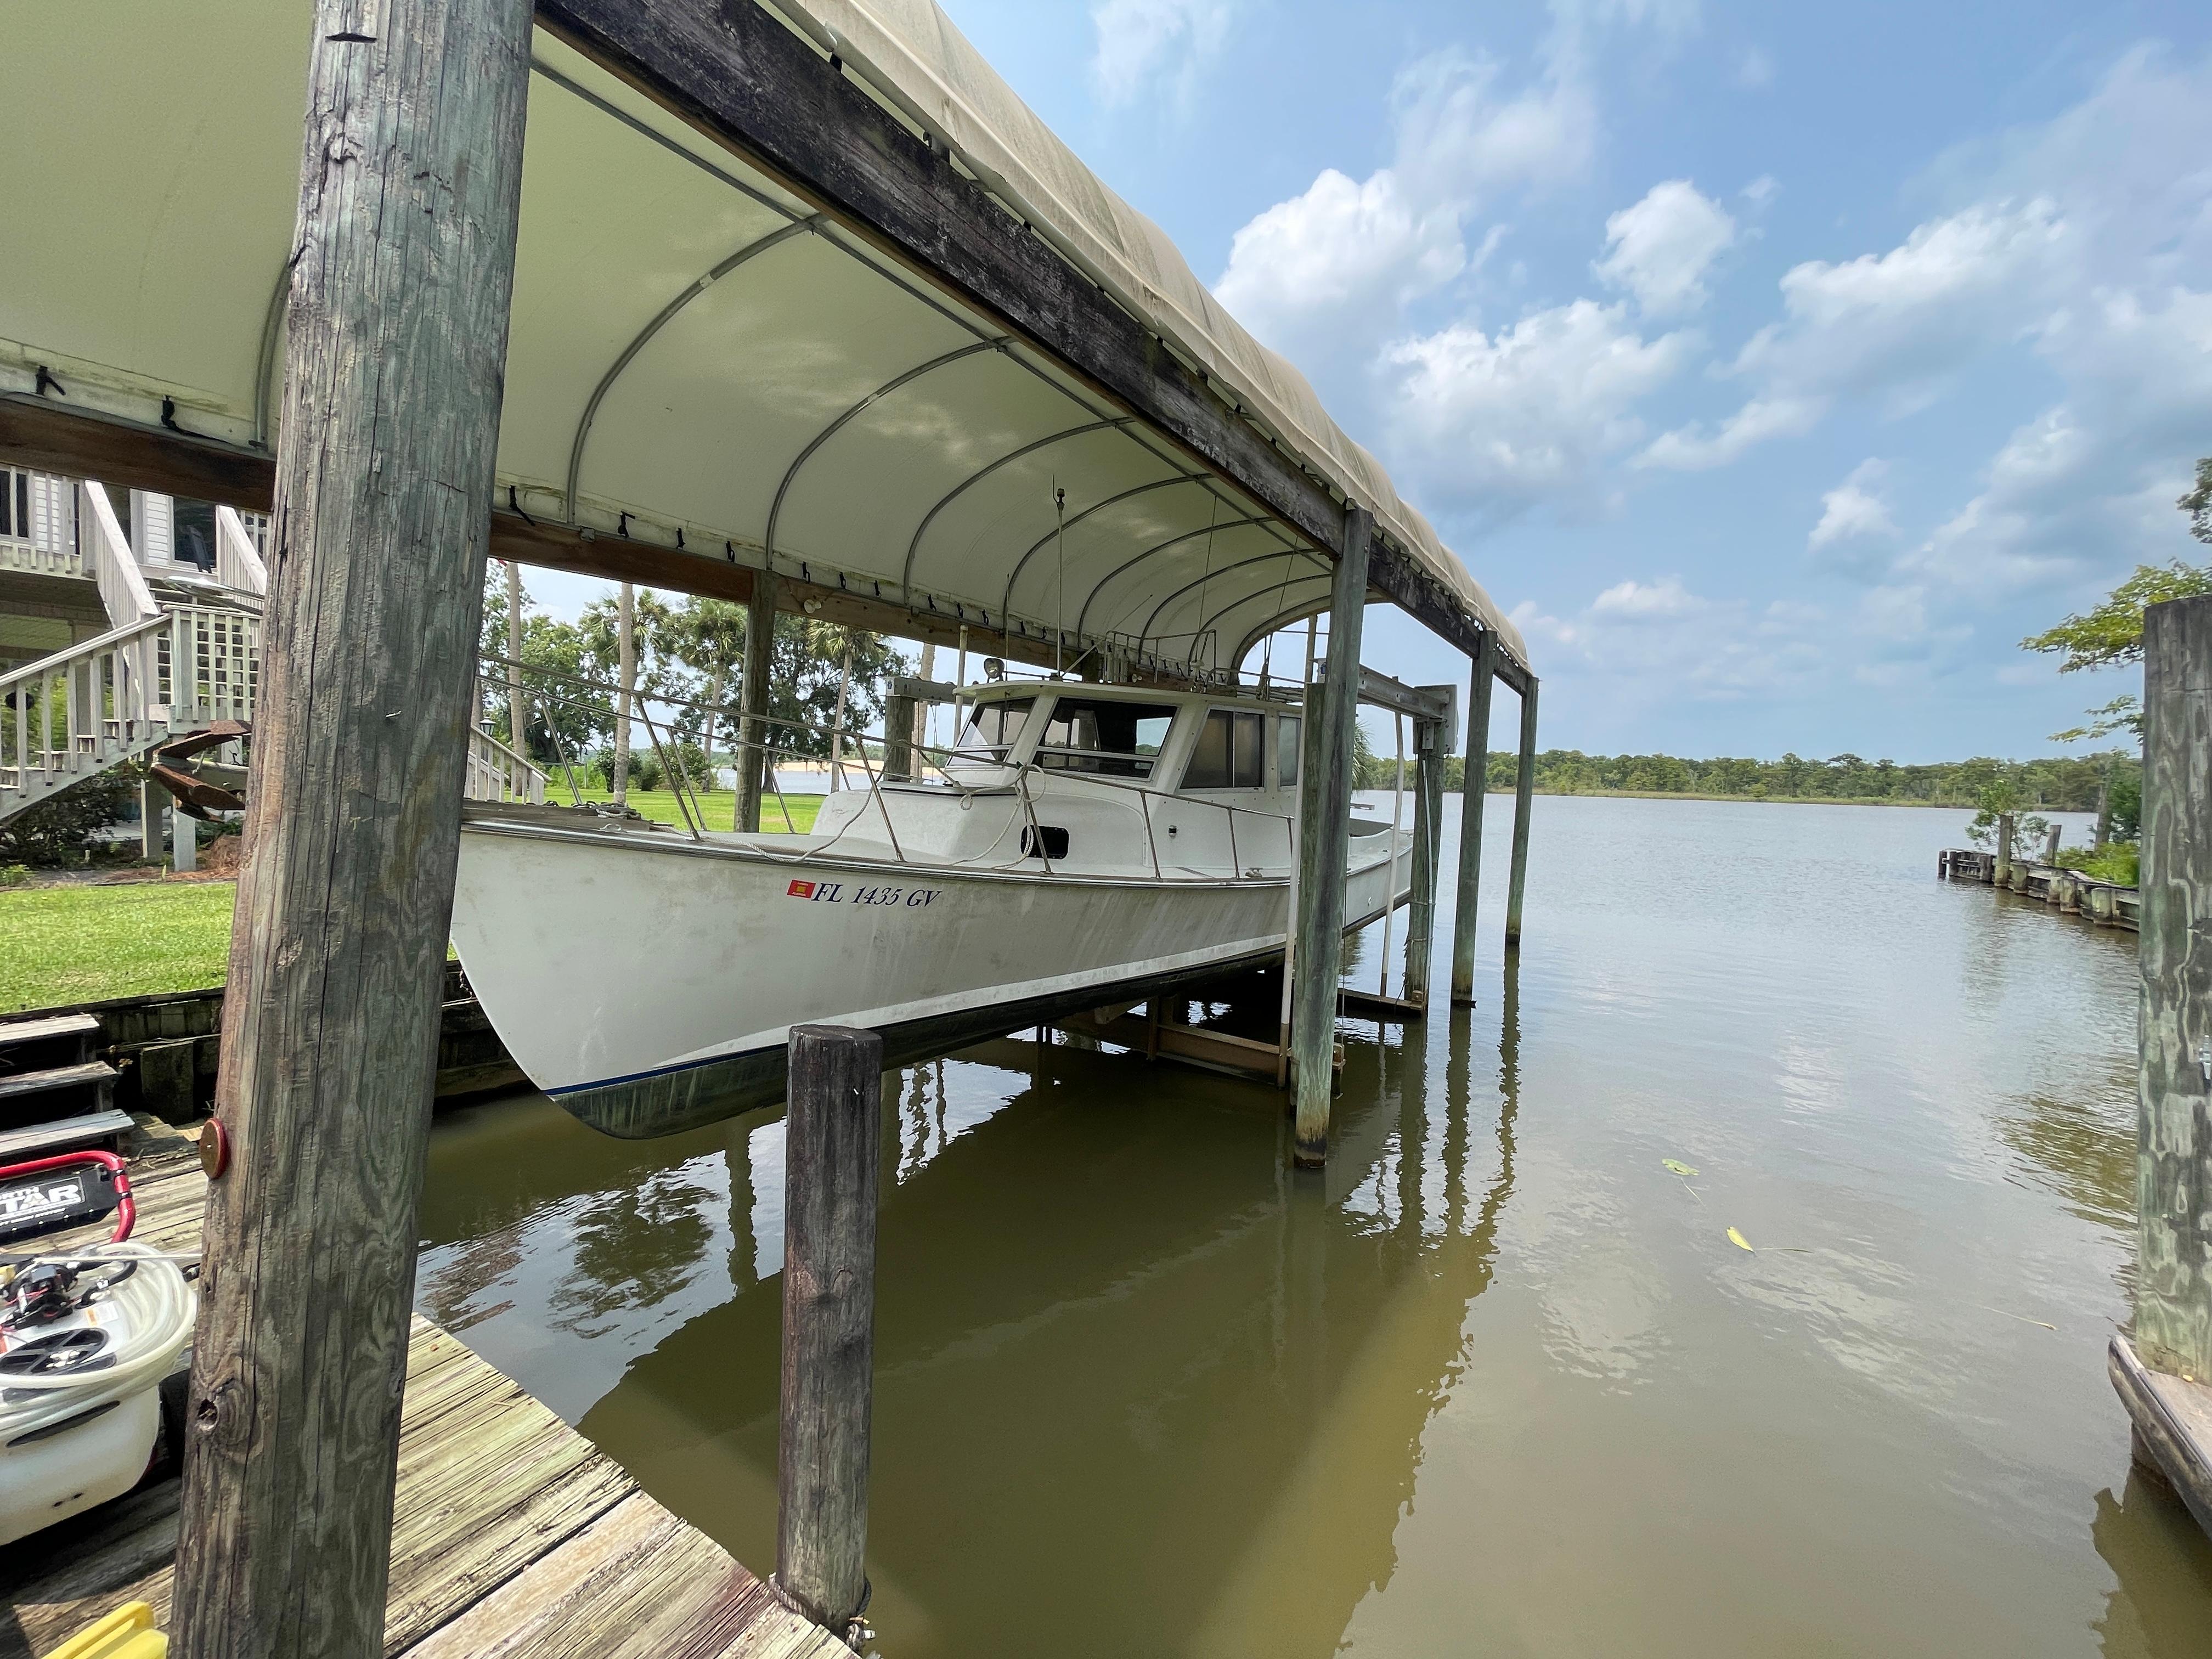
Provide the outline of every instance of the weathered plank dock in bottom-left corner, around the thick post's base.
<path id="1" fill-rule="evenodd" d="M 157 1250 L 197 1250 L 208 1181 L 190 1133 L 131 1161 Z M 106 1223 L 53 1245 L 97 1243 Z M 42 1241 L 46 1243 L 46 1241 Z M 131 1601 L 168 1626 L 181 1482 L 142 1484 L 0 1548 L 0 1659 L 51 1652 Z M 387 1659 L 695 1655 L 827 1659 L 843 1641 L 456 1336 L 414 1316 L 400 1405 Z"/>

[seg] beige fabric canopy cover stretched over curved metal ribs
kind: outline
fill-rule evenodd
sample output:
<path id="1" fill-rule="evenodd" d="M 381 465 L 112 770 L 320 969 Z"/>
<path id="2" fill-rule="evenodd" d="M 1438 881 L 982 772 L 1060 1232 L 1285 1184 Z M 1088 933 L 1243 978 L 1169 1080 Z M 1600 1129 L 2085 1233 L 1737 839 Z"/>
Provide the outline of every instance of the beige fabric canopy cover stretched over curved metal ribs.
<path id="1" fill-rule="evenodd" d="M 272 447 L 310 7 L 4 0 L 0 389 Z M 1175 248 L 929 0 L 785 22 L 949 139 L 1009 210 L 1520 635 Z M 1228 670 L 1325 608 L 1316 549 L 987 312 L 546 31 L 533 42 L 500 498 L 1068 668 Z"/>

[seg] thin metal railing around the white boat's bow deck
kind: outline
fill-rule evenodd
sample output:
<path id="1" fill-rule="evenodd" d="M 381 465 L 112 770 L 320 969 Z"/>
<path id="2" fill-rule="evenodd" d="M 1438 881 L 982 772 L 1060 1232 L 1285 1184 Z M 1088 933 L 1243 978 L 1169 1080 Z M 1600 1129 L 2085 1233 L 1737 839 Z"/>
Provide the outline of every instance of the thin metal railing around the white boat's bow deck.
<path id="1" fill-rule="evenodd" d="M 511 670 L 520 675 L 520 697 L 524 708 L 524 730 L 535 741 L 544 741 L 553 765 L 560 770 L 566 783 L 571 805 L 595 807 L 604 803 L 586 801 L 584 785 L 577 781 L 577 765 L 582 763 L 582 743 L 577 737 L 591 737 L 599 730 L 611 730 L 619 719 L 619 708 L 624 703 L 624 692 L 604 679 L 593 679 L 591 675 L 568 672 L 564 668 L 551 668 L 546 664 L 524 664 L 509 657 L 484 655 L 478 666 L 480 697 L 489 703 L 491 699 L 504 699 L 511 695 Z M 1053 856 L 1046 847 L 1048 836 L 1046 825 L 1037 816 L 1035 783 L 1051 774 L 1053 779 L 1079 779 L 1086 790 L 1102 790 L 1108 794 L 1133 796 L 1130 805 L 1139 825 L 1144 827 L 1146 858 L 1152 869 L 1155 880 L 1190 880 L 1203 885 L 1217 885 L 1221 880 L 1219 872 L 1190 869 L 1188 865 L 1177 867 L 1161 860 L 1159 856 L 1159 834 L 1152 810 L 1157 803 L 1175 803 L 1177 812 L 1219 812 L 1221 823 L 1228 832 L 1230 843 L 1230 878 L 1261 878 L 1259 867 L 1250 872 L 1243 865 L 1243 845 L 1250 843 L 1261 825 L 1272 825 L 1285 838 L 1287 847 L 1296 847 L 1296 823 L 1287 812 L 1267 812 L 1263 807 L 1237 805 L 1232 801 L 1208 801 L 1190 794 L 1175 794 L 1170 790 L 1148 787 L 1146 781 L 1108 776 L 1104 772 L 1077 770 L 1071 765 L 1042 765 L 1037 757 L 1031 757 L 1020 768 L 1009 765 L 998 752 L 989 759 L 978 757 L 975 750 L 962 750 L 958 745 L 933 745 L 918 741 L 894 743 L 887 734 L 867 732 L 854 721 L 816 721 L 794 714 L 745 714 L 743 710 L 730 708 L 728 703 L 712 703 L 697 697 L 681 697 L 670 690 L 641 686 L 628 692 L 630 719 L 646 732 L 646 743 L 659 763 L 661 779 L 668 783 L 675 796 L 677 814 L 684 821 L 684 830 L 692 841 L 706 841 L 706 807 L 699 801 L 699 783 L 690 776 L 690 768 L 684 759 L 684 745 L 692 743 L 706 757 L 706 763 L 714 765 L 717 752 L 728 752 L 737 757 L 737 772 L 743 776 L 748 763 L 763 765 L 765 785 L 776 799 L 779 814 L 785 827 L 794 825 L 792 805 L 783 792 L 783 781 L 779 776 L 779 763 L 812 765 L 830 761 L 830 783 L 832 790 L 843 783 L 845 772 L 858 763 L 865 779 L 860 785 L 847 783 L 845 787 L 865 787 L 869 805 L 847 818 L 838 830 L 825 836 L 821 843 L 792 852 L 792 854 L 770 854 L 787 858 L 790 863 L 805 863 L 818 854 L 830 852 L 838 841 L 845 838 L 860 823 L 880 823 L 885 841 L 891 847 L 891 858 L 900 865 L 931 865 L 931 867 L 982 867 L 982 869 L 1015 869 L 1031 858 L 1044 865 L 1046 874 L 1057 874 Z M 482 706 L 482 703 L 480 703 Z M 659 719 L 655 719 L 659 710 Z M 564 719 L 564 714 L 568 719 Z M 575 717 L 582 717 L 575 719 Z M 750 737 L 748 728 L 761 726 L 761 737 Z M 566 728 L 566 734 L 564 734 Z M 909 768 L 900 774 L 889 774 L 887 763 L 894 754 L 900 754 L 902 763 Z M 1053 750 L 1053 759 L 1068 759 L 1066 750 Z M 524 757 L 515 757 L 524 759 Z M 1075 757 L 1082 759 L 1082 757 Z M 1124 759 L 1124 757 L 1113 757 Z M 1150 757 L 1137 757 L 1150 759 Z M 529 761 L 526 761 L 529 763 Z M 975 774 L 984 776 L 978 779 Z M 967 776 L 962 776 L 967 774 Z M 1006 830 L 984 847 L 980 854 L 967 858 L 911 858 L 898 841 L 898 825 L 894 823 L 891 805 L 885 799 L 898 785 L 900 792 L 907 790 L 947 790 L 962 799 L 1013 794 L 1018 799 L 1018 812 L 1009 816 L 1006 830 L 1020 825 L 1029 834 L 1018 836 L 1018 852 L 1000 863 L 984 863 L 1006 841 Z M 542 799 L 542 796 L 540 796 Z M 1239 838 L 1239 821 L 1245 823 L 1243 841 Z M 1188 874 L 1179 874 L 1188 872 Z"/>

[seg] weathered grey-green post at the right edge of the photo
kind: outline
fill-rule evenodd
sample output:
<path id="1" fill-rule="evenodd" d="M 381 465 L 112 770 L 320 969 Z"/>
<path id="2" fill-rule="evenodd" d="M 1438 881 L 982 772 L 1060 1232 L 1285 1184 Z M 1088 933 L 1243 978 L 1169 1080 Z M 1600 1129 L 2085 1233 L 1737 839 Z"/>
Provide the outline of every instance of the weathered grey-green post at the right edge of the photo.
<path id="1" fill-rule="evenodd" d="M 2143 975 L 2135 1329 L 2110 1345 L 2137 1455 L 2212 1526 L 2212 597 L 2143 613 Z"/>

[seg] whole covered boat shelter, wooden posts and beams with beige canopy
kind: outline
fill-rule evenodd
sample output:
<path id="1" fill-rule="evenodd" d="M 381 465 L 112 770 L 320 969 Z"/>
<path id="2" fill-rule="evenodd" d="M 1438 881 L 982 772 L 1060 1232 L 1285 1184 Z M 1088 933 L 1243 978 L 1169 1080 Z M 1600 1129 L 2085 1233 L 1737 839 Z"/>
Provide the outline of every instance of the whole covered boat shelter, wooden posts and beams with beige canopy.
<path id="1" fill-rule="evenodd" d="M 1369 602 L 1473 664 L 1455 1000 L 1491 681 L 1522 697 L 1517 947 L 1517 630 L 933 7 L 111 0 L 20 9 L 9 64 L 0 460 L 274 513 L 192 1659 L 378 1650 L 487 553 L 748 604 L 752 743 L 776 611 L 1128 677 L 1327 613 L 1298 1164 L 1329 1148 Z"/>

